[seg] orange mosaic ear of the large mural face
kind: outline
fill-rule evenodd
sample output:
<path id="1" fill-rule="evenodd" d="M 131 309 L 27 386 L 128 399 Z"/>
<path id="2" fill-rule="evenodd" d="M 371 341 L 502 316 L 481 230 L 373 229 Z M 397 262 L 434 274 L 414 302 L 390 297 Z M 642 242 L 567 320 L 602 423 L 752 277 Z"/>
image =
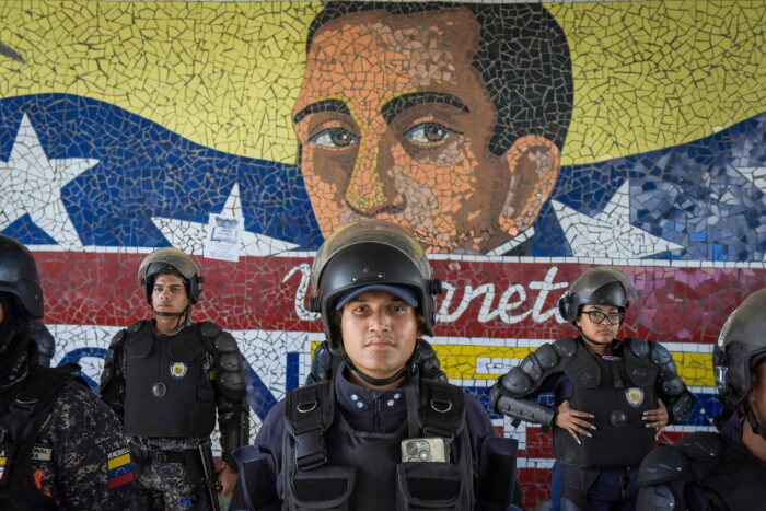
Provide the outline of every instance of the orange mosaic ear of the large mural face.
<path id="1" fill-rule="evenodd" d="M 510 186 L 500 212 L 500 227 L 511 236 L 526 231 L 556 187 L 561 154 L 538 135 L 518 139 L 506 152 Z"/>

